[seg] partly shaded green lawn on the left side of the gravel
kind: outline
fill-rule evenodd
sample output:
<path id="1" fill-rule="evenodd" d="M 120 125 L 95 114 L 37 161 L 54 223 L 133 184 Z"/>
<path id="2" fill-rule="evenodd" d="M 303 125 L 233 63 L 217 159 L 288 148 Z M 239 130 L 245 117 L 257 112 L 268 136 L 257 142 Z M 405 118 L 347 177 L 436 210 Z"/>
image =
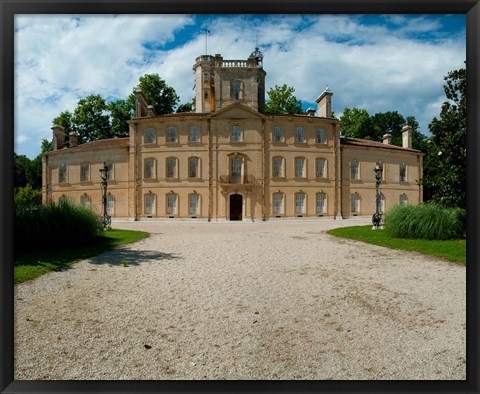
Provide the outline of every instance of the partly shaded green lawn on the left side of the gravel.
<path id="1" fill-rule="evenodd" d="M 13 267 L 15 283 L 38 278 L 50 271 L 61 270 L 80 260 L 149 236 L 150 234 L 144 231 L 111 229 L 104 231 L 98 238 L 98 242 L 89 246 L 29 252 L 16 251 Z M 72 237 L 72 240 L 74 238 Z"/>

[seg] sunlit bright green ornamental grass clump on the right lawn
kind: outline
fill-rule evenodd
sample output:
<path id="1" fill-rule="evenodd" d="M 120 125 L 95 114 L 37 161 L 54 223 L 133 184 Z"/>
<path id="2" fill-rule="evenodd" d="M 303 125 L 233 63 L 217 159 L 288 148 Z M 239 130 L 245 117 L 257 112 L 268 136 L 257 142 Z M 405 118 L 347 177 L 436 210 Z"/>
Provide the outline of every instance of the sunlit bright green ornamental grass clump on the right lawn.
<path id="1" fill-rule="evenodd" d="M 460 239 L 466 235 L 466 222 L 465 209 L 396 205 L 385 215 L 385 230 L 396 238 Z"/>

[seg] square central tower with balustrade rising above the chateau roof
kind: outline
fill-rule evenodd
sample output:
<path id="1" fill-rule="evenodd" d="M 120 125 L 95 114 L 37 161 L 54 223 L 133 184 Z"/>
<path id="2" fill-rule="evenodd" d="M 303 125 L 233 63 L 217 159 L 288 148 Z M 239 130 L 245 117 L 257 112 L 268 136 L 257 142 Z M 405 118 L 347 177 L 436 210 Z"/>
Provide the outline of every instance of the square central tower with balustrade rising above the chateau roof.
<path id="1" fill-rule="evenodd" d="M 196 112 L 215 112 L 233 103 L 265 110 L 263 54 L 258 48 L 247 60 L 225 60 L 219 54 L 195 59 Z"/>

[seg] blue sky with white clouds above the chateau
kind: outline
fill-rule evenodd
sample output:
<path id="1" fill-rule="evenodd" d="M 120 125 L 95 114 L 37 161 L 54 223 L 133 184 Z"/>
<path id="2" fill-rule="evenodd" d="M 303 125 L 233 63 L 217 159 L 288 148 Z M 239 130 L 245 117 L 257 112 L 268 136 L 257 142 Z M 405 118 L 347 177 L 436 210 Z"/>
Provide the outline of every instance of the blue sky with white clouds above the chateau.
<path id="1" fill-rule="evenodd" d="M 17 15 L 15 152 L 33 159 L 62 111 L 90 94 L 124 99 L 145 74 L 191 101 L 197 56 L 247 59 L 257 45 L 267 90 L 294 87 L 306 110 L 328 86 L 335 116 L 397 111 L 428 136 L 444 77 L 465 66 L 465 26 L 465 15 Z"/>

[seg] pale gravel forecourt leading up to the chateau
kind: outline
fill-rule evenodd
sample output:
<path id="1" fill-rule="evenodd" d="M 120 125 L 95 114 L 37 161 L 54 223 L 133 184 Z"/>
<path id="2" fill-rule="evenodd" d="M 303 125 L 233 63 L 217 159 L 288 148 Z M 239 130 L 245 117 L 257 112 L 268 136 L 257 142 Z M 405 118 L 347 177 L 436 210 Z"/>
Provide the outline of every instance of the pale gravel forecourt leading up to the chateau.
<path id="1" fill-rule="evenodd" d="M 325 233 L 367 223 L 114 223 L 15 286 L 15 379 L 465 379 L 465 267 Z"/>

